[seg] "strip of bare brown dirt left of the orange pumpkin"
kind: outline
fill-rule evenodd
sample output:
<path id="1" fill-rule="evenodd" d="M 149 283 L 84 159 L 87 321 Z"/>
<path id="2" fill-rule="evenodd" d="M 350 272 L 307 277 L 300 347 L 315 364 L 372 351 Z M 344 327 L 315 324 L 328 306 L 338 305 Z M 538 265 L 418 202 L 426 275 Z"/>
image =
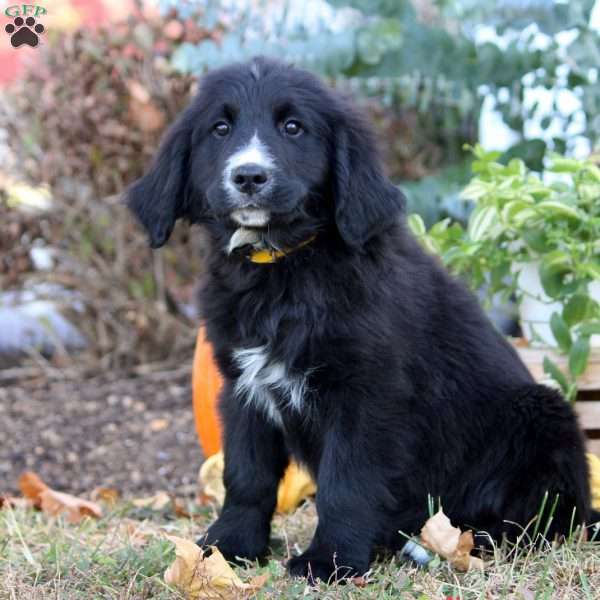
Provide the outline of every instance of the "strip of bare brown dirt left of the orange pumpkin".
<path id="1" fill-rule="evenodd" d="M 0 383 L 0 494 L 33 470 L 73 493 L 103 486 L 126 496 L 194 495 L 202 453 L 190 377 L 178 370 Z"/>

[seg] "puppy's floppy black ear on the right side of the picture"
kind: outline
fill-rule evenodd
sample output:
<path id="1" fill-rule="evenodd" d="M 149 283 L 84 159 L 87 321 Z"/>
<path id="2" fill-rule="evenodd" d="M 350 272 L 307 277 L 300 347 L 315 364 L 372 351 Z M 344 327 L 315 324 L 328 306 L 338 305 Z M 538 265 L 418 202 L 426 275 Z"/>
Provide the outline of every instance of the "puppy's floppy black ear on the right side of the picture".
<path id="1" fill-rule="evenodd" d="M 335 133 L 335 221 L 342 239 L 361 247 L 399 218 L 406 199 L 384 175 L 373 134 L 349 109 Z"/>

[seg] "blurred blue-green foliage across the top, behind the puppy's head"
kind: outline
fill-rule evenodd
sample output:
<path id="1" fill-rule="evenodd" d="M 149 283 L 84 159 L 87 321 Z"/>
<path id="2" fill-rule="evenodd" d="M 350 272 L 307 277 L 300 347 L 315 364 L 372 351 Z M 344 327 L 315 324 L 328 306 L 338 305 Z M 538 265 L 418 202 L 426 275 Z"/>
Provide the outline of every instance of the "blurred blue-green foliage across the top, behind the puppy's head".
<path id="1" fill-rule="evenodd" d="M 541 170 L 548 140 L 524 136 L 525 123 L 539 108 L 525 102 L 525 91 L 538 86 L 574 90 L 585 113 L 583 135 L 592 143 L 600 138 L 600 38 L 589 27 L 594 0 L 432 0 L 425 15 L 417 14 L 411 0 L 329 0 L 345 23 L 325 14 L 310 30 L 291 22 L 291 1 L 269 19 L 266 10 L 243 2 L 162 0 L 162 5 L 224 31 L 219 43 L 182 44 L 173 58 L 177 69 L 201 74 L 258 54 L 289 60 L 393 110 L 417 111 L 419 134 L 444 148 L 442 164 L 465 160 L 463 142 L 475 141 L 483 98 L 492 95 L 504 122 L 519 134 L 508 157 Z M 491 41 L 479 35 L 482 27 L 492 33 L 485 38 Z M 559 43 L 557 35 L 564 40 L 565 32 L 570 42 Z M 550 149 L 568 151 L 568 128 L 577 115 L 562 114 L 554 102 L 542 129 L 554 117 L 563 127 Z M 425 188 L 447 188 L 439 186 L 440 177 L 444 172 Z M 419 195 L 419 186 L 413 187 Z"/>

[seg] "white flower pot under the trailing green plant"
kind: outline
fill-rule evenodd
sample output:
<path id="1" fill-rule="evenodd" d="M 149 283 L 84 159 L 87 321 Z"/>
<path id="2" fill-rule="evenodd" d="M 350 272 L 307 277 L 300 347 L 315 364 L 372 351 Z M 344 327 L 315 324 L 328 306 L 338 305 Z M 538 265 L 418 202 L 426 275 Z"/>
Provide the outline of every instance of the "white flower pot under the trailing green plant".
<path id="1" fill-rule="evenodd" d="M 552 335 L 550 317 L 554 312 L 562 313 L 561 303 L 553 301 L 544 293 L 538 262 L 522 263 L 517 265 L 516 270 L 520 270 L 518 285 L 524 292 L 519 304 L 523 336 L 533 347 L 556 348 L 558 344 Z M 600 281 L 591 283 L 588 290 L 591 297 L 600 302 Z M 593 347 L 600 347 L 600 335 L 593 335 L 590 343 Z"/>

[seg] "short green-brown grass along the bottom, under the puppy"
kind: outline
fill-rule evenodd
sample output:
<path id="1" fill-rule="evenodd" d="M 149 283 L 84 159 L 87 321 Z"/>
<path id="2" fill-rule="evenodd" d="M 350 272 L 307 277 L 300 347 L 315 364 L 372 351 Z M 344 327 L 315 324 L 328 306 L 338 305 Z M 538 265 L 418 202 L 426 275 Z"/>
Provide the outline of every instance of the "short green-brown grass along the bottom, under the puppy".
<path id="1" fill-rule="evenodd" d="M 70 525 L 31 509 L 5 508 L 0 511 L 0 599 L 183 598 L 163 583 L 164 570 L 174 560 L 164 534 L 193 540 L 214 514 L 205 507 L 193 520 L 176 518 L 169 510 L 121 502 L 100 520 Z M 308 587 L 287 577 L 284 565 L 306 546 L 315 524 L 312 503 L 294 515 L 277 516 L 269 562 L 236 567 L 244 581 L 270 575 L 257 598 L 600 598 L 600 547 L 581 540 L 539 552 L 498 549 L 484 573 L 461 574 L 439 559 L 417 568 L 388 557 L 373 565 L 364 587 Z"/>

